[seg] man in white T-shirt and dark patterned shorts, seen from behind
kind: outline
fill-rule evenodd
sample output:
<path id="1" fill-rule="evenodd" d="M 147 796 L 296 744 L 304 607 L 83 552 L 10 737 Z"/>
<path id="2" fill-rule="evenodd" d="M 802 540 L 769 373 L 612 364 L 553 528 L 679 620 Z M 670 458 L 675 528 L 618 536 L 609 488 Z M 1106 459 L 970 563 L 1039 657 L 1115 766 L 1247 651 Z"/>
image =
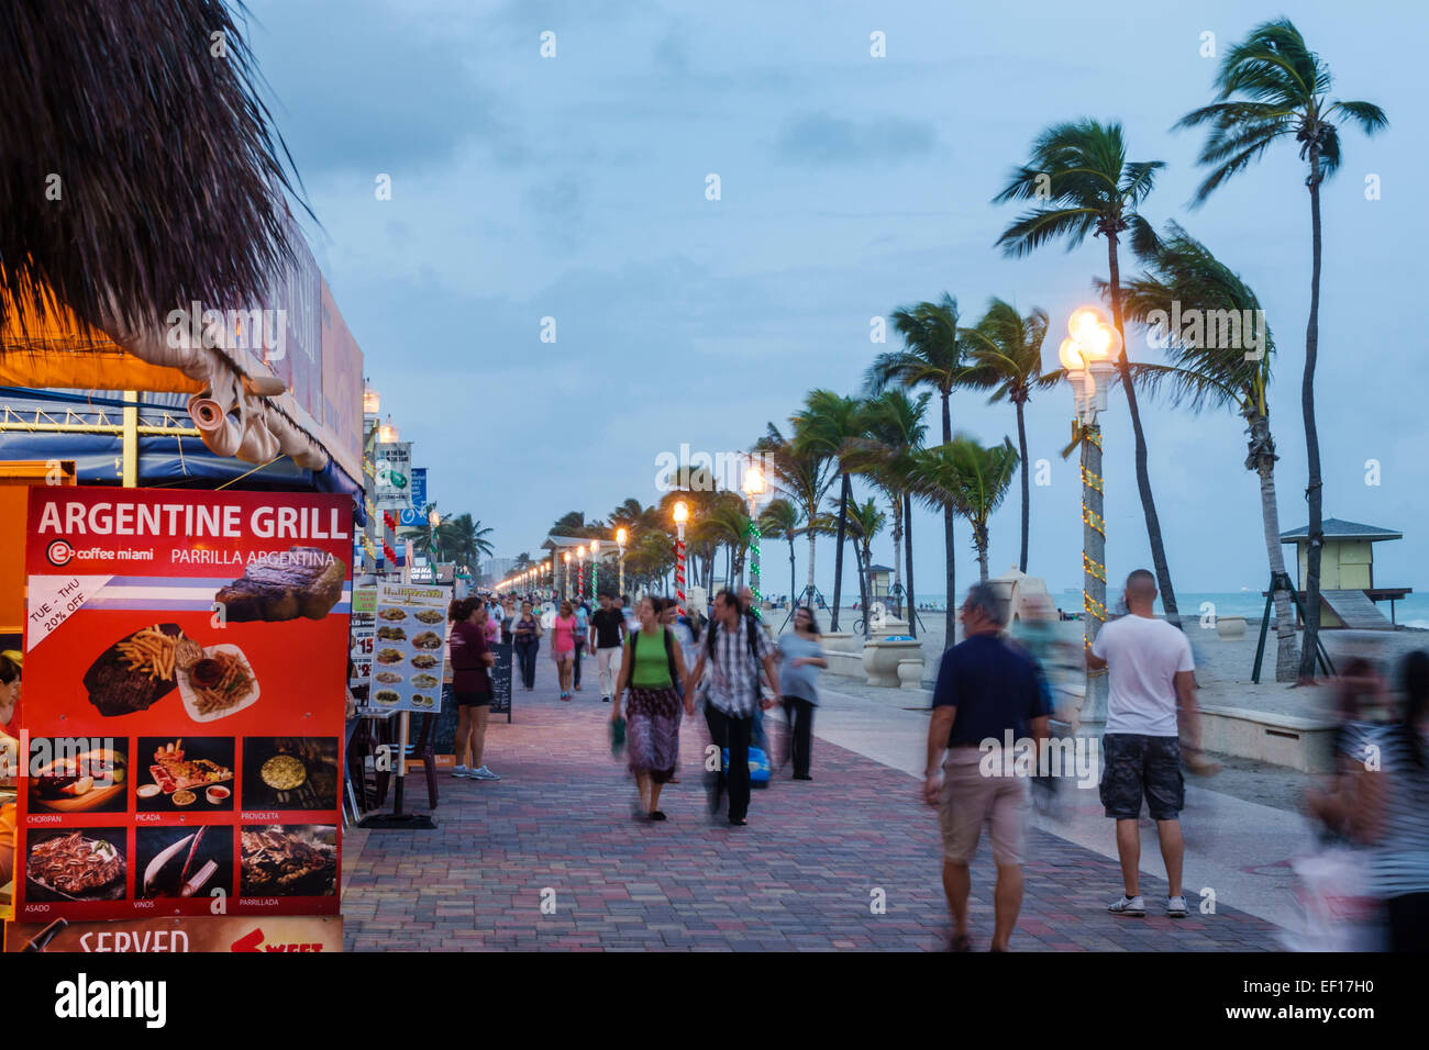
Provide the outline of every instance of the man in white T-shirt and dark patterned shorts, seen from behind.
<path id="1" fill-rule="evenodd" d="M 1112 620 L 1096 636 L 1086 656 L 1092 670 L 1107 670 L 1106 736 L 1102 739 L 1102 806 L 1116 820 L 1116 851 L 1122 860 L 1126 894 L 1107 907 L 1123 916 L 1145 916 L 1139 889 L 1142 839 L 1137 819 L 1145 797 L 1156 833 L 1170 894 L 1166 914 L 1186 914 L 1180 867 L 1185 843 L 1180 810 L 1186 781 L 1180 773 L 1180 733 L 1176 707 L 1186 731 L 1187 764 L 1213 771 L 1200 757 L 1200 719 L 1196 711 L 1196 673 L 1186 636 L 1156 619 L 1156 577 L 1137 569 L 1126 577 L 1127 614 Z"/>

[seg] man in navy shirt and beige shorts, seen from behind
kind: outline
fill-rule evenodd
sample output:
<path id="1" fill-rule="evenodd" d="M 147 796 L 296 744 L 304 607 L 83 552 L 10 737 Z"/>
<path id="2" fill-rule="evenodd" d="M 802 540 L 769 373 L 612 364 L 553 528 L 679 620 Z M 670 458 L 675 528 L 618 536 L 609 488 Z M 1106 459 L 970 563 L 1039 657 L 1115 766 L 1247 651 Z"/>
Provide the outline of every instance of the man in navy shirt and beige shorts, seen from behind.
<path id="1" fill-rule="evenodd" d="M 1006 734 L 1032 737 L 1040 747 L 1052 713 L 1036 661 L 1002 637 L 1006 613 L 987 584 L 967 591 L 963 641 L 943 654 L 927 730 L 923 800 L 939 807 L 943 831 L 943 893 L 953 917 L 952 951 L 967 951 L 967 866 L 983 824 L 992 829 L 997 866 L 992 950 L 1006 951 L 1022 910 L 1022 849 L 1027 823 L 1029 781 L 1005 767 L 1000 756 L 985 763 L 985 741 L 999 751 Z"/>

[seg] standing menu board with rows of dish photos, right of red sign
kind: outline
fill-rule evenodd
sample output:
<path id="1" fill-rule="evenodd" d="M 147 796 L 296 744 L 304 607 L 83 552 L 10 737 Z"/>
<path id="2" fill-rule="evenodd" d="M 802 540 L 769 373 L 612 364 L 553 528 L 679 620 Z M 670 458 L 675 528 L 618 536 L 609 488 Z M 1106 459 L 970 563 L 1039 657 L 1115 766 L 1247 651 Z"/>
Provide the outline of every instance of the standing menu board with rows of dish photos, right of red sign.
<path id="1" fill-rule="evenodd" d="M 450 601 L 450 587 L 377 584 L 377 633 L 373 640 L 372 689 L 367 694 L 370 704 L 419 714 L 442 710 L 446 614 Z"/>

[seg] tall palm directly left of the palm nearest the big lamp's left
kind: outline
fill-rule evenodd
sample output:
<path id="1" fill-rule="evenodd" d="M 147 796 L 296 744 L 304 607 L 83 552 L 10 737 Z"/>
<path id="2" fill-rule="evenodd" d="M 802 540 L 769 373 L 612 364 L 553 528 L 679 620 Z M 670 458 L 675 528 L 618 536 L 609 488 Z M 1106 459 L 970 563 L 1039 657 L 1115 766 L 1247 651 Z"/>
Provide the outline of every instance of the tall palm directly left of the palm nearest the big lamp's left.
<path id="1" fill-rule="evenodd" d="M 913 390 L 932 387 L 943 407 L 943 443 L 953 440 L 953 416 L 949 406 L 953 390 L 967 376 L 963 343 L 957 329 L 957 300 L 946 291 L 936 303 L 916 303 L 893 311 L 893 327 L 903 337 L 903 350 L 879 354 L 865 376 L 869 393 L 882 393 L 897 384 Z M 943 507 L 943 556 L 947 574 L 947 609 L 943 629 L 953 637 L 957 626 L 953 551 L 953 510 Z"/>

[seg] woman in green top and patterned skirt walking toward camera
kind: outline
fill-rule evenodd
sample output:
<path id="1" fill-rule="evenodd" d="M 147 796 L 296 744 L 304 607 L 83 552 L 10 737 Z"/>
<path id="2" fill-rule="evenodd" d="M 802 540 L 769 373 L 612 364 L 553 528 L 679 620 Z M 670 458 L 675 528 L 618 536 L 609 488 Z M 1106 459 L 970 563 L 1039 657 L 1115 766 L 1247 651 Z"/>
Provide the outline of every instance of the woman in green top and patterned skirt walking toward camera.
<path id="1" fill-rule="evenodd" d="M 610 704 L 610 721 L 620 720 L 620 700 L 626 700 L 626 754 L 640 791 L 640 806 L 650 820 L 664 820 L 660 790 L 674 777 L 680 757 L 682 700 L 676 683 L 686 674 L 684 653 L 674 631 L 660 623 L 656 599 L 640 601 L 640 630 L 630 636 L 620 677 Z M 694 699 L 683 701 L 686 714 L 694 714 Z"/>

